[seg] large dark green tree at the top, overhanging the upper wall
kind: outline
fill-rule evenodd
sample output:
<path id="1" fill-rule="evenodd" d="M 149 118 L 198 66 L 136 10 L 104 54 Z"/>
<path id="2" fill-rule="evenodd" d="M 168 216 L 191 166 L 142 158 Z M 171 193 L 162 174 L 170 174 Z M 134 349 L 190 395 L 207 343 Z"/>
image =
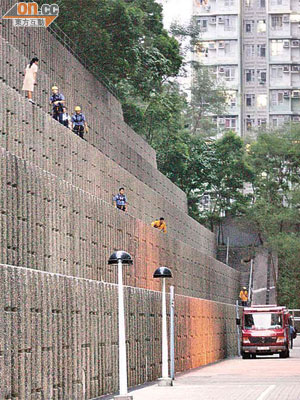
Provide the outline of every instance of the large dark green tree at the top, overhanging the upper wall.
<path id="1" fill-rule="evenodd" d="M 116 85 L 125 107 L 129 94 L 138 98 L 138 110 L 139 102 L 178 73 L 179 44 L 163 28 L 162 7 L 154 0 L 63 0 L 59 6 L 57 24 L 72 38 L 71 46 Z"/>

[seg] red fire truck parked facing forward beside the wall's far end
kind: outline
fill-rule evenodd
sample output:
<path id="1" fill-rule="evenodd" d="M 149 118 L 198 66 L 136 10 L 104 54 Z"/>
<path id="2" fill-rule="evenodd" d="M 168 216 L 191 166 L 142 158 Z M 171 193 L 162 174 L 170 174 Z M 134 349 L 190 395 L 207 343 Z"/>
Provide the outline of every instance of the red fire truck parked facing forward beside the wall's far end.
<path id="1" fill-rule="evenodd" d="M 261 305 L 245 307 L 242 318 L 242 357 L 290 355 L 290 314 L 286 307 Z"/>

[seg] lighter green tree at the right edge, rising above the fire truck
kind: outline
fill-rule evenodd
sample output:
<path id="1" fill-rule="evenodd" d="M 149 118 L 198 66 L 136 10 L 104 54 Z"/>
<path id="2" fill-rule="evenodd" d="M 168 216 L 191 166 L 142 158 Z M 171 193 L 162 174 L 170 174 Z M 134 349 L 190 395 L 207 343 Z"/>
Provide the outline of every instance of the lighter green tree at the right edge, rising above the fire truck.
<path id="1" fill-rule="evenodd" d="M 255 172 L 246 217 L 278 255 L 279 302 L 300 307 L 300 129 L 261 132 L 249 149 Z"/>

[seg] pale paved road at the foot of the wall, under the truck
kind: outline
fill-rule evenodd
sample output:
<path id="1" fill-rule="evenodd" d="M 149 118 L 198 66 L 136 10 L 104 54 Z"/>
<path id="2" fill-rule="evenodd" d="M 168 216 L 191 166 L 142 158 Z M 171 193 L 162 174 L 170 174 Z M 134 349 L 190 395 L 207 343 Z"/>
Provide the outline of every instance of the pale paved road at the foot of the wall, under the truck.
<path id="1" fill-rule="evenodd" d="M 131 392 L 134 400 L 300 400 L 300 337 L 291 357 L 221 361 Z"/>

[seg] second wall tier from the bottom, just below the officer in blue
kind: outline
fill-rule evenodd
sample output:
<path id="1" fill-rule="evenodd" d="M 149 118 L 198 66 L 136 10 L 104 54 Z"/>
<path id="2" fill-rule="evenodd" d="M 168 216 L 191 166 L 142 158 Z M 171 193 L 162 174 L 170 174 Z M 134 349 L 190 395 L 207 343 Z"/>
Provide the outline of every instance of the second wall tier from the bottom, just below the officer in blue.
<path id="1" fill-rule="evenodd" d="M 164 235 L 4 149 L 0 168 L 3 264 L 115 282 L 107 260 L 123 248 L 135 260 L 128 285 L 158 289 L 154 266 L 169 265 L 176 293 L 234 302 L 239 273 L 171 231 Z"/>

